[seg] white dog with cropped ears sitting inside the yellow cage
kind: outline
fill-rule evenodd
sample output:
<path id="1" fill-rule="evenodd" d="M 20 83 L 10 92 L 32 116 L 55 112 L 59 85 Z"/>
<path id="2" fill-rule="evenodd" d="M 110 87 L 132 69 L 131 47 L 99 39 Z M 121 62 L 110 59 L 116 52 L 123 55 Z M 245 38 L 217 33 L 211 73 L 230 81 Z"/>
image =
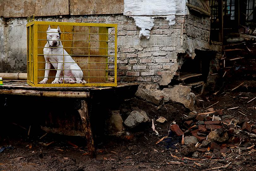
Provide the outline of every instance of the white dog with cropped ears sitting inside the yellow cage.
<path id="1" fill-rule="evenodd" d="M 52 66 L 57 70 L 55 80 L 52 84 L 58 83 L 82 83 L 83 71 L 78 64 L 72 59 L 72 57 L 66 52 L 61 44 L 61 29 L 58 26 L 57 29 L 52 29 L 49 25 L 47 31 L 47 43 L 44 46 L 44 58 L 45 58 L 45 73 L 44 79 L 40 81 L 40 84 L 46 84 L 48 76 Z M 63 69 L 64 67 L 64 69 Z M 64 74 L 63 74 L 64 72 Z M 63 81 L 64 79 L 64 81 Z"/>

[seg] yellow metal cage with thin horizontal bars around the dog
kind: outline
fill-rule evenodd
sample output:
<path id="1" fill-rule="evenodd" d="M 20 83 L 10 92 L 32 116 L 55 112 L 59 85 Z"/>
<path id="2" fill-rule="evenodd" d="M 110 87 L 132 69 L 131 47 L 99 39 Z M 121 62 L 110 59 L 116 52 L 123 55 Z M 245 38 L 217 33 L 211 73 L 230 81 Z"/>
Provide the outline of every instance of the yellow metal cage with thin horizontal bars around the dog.
<path id="1" fill-rule="evenodd" d="M 55 79 L 56 69 L 51 64 L 45 68 L 44 46 L 47 43 L 48 26 L 61 30 L 60 40 L 69 56 L 83 71 L 85 84 L 63 82 L 51 84 Z M 117 25 L 97 23 L 45 22 L 28 19 L 27 27 L 27 83 L 38 87 L 81 87 L 81 86 L 117 86 Z M 114 30 L 114 34 L 111 34 Z M 59 63 L 59 62 L 58 62 Z M 111 67 L 110 67 L 111 66 Z M 114 66 L 114 67 L 113 67 Z M 114 69 L 113 69 L 114 68 Z M 39 84 L 44 79 L 45 70 L 49 70 L 48 82 Z"/>

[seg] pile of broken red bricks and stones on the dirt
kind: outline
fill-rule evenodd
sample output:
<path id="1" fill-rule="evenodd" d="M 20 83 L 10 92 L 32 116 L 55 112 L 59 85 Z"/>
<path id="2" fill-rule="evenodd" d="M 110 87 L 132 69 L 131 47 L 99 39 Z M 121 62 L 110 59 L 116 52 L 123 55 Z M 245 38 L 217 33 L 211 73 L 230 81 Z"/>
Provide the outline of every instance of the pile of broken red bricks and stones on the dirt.
<path id="1" fill-rule="evenodd" d="M 192 157 L 225 156 L 227 152 L 253 150 L 256 140 L 256 126 L 249 119 L 240 120 L 231 115 L 224 115 L 221 110 L 207 113 L 193 113 L 183 119 L 181 129 L 177 124 L 171 130 L 182 138 L 183 155 Z M 184 130 L 184 131 L 182 131 Z"/>

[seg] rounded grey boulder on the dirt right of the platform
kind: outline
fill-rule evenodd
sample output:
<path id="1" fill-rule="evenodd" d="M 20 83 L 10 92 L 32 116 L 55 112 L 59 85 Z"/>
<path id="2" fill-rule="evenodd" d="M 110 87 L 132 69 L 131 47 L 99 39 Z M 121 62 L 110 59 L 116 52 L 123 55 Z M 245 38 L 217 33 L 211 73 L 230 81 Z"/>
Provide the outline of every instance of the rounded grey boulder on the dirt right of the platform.
<path id="1" fill-rule="evenodd" d="M 143 110 L 134 110 L 130 113 L 130 115 L 125 120 L 125 125 L 134 128 L 135 126 L 149 122 L 150 119 L 148 118 L 148 115 Z"/>

